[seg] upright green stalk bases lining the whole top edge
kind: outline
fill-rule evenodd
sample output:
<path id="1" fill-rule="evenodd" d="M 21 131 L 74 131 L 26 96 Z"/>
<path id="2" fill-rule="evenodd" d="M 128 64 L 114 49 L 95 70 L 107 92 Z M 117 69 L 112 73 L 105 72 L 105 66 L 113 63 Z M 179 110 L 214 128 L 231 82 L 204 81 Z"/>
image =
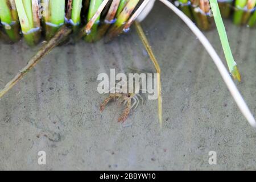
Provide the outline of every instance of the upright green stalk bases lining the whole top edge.
<path id="1" fill-rule="evenodd" d="M 201 30 L 214 27 L 208 0 L 173 2 Z M 141 3 L 142 0 L 0 0 L 0 38 L 17 42 L 23 35 L 27 44 L 34 46 L 41 37 L 49 40 L 68 24 L 74 32 L 84 26 L 79 35 L 87 42 L 103 36 L 111 40 L 127 31 L 125 24 Z M 233 17 L 234 24 L 250 27 L 256 24 L 255 5 L 256 0 L 218 0 L 222 18 Z"/>

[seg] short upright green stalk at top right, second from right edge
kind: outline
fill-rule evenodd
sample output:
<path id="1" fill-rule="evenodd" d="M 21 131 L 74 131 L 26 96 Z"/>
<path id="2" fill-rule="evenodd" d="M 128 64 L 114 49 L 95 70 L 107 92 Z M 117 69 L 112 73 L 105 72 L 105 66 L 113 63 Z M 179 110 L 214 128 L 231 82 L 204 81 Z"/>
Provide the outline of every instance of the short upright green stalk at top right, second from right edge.
<path id="1" fill-rule="evenodd" d="M 243 13 L 245 13 L 246 5 L 247 5 L 247 0 L 235 1 L 235 10 L 234 10 L 234 19 L 233 19 L 234 24 L 236 25 L 242 24 Z"/>

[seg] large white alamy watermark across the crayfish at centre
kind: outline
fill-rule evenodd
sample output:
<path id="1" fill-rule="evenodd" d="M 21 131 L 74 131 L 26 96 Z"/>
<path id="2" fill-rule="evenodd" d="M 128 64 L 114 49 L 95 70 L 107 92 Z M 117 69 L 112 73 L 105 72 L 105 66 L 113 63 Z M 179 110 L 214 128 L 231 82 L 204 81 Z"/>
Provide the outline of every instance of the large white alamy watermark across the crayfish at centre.
<path id="1" fill-rule="evenodd" d="M 110 69 L 110 79 L 108 74 L 101 73 L 97 80 L 98 93 L 148 93 L 148 100 L 158 99 L 157 88 L 158 73 L 129 73 L 128 77 L 125 73 L 115 75 L 115 69 Z M 154 83 L 153 83 L 154 82 Z"/>

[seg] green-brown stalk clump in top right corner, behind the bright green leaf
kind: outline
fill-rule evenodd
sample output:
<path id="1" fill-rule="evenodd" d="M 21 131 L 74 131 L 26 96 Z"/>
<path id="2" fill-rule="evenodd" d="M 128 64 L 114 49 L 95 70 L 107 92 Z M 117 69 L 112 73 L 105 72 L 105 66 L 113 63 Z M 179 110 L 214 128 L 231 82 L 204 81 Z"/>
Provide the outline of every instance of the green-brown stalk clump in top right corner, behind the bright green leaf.
<path id="1" fill-rule="evenodd" d="M 212 11 L 208 0 L 179 0 L 177 2 L 176 6 L 201 30 L 210 30 L 213 27 Z M 255 26 L 256 0 L 218 0 L 217 2 L 222 18 L 232 18 L 234 24 L 237 25 Z"/>

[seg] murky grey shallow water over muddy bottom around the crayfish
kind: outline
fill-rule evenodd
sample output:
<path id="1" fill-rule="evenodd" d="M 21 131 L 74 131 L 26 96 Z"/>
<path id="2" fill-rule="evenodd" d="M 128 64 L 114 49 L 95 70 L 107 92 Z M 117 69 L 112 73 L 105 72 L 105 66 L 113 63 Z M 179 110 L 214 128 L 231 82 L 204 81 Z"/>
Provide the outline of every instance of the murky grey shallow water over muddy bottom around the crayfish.
<path id="1" fill-rule="evenodd" d="M 256 113 L 256 30 L 225 25 L 236 84 Z M 53 49 L 0 100 L 0 169 L 256 169 L 255 130 L 199 40 L 160 3 L 142 27 L 162 68 L 163 129 L 154 100 L 125 123 L 118 102 L 99 110 L 107 95 L 97 92 L 98 74 L 155 72 L 135 29 L 108 44 L 81 40 Z M 224 60 L 217 31 L 205 35 Z M 1 87 L 41 45 L 0 44 Z M 46 166 L 37 163 L 42 150 Z M 209 151 L 218 165 L 209 165 Z"/>

